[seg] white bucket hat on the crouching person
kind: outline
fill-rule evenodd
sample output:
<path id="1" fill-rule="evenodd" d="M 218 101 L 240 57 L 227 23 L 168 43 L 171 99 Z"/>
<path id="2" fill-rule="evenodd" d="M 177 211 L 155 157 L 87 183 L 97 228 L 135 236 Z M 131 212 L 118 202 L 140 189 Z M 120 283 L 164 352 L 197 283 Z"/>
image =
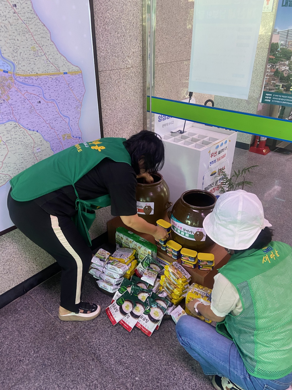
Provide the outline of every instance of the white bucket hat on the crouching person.
<path id="1" fill-rule="evenodd" d="M 264 218 L 259 198 L 244 190 L 223 193 L 203 221 L 206 234 L 216 244 L 234 250 L 249 248 L 266 226 L 272 225 Z"/>

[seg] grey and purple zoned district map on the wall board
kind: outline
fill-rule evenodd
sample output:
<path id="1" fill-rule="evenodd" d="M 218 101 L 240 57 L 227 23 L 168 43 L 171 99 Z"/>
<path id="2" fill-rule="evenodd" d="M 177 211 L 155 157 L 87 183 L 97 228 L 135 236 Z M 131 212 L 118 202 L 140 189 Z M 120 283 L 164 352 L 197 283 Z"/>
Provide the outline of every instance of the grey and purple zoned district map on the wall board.
<path id="1" fill-rule="evenodd" d="M 0 3 L 0 187 L 83 142 L 81 69 L 51 40 L 30 0 Z"/>

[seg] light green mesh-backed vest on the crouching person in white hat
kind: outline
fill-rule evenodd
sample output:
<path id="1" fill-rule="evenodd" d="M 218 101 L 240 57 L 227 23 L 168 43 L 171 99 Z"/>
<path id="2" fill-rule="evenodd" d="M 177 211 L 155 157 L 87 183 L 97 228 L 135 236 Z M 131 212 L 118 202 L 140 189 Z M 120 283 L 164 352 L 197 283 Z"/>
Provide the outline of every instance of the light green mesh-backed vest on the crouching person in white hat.
<path id="1" fill-rule="evenodd" d="M 292 372 L 292 248 L 272 241 L 231 256 L 219 269 L 237 289 L 243 311 L 228 314 L 217 332 L 237 346 L 246 370 L 263 379 Z"/>

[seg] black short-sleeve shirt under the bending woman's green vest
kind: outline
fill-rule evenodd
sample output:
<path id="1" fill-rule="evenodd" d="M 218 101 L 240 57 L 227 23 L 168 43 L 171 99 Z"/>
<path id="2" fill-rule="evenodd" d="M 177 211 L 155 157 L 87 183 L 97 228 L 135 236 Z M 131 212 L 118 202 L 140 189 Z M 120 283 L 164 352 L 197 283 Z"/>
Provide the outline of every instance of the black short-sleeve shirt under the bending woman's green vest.
<path id="1" fill-rule="evenodd" d="M 137 214 L 136 186 L 134 169 L 127 163 L 118 163 L 109 158 L 100 161 L 75 184 L 82 200 L 109 194 L 113 216 Z M 75 200 L 73 186 L 65 186 L 34 201 L 51 215 L 72 217 L 76 213 Z"/>

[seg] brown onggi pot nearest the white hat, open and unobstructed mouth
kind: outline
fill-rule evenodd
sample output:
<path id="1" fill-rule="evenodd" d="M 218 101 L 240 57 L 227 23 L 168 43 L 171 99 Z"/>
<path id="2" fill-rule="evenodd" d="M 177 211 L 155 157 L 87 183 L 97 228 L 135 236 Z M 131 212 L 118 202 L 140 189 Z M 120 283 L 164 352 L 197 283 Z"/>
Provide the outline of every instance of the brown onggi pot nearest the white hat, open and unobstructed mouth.
<path id="1" fill-rule="evenodd" d="M 203 221 L 215 206 L 216 197 L 203 190 L 184 192 L 172 207 L 171 236 L 183 248 L 201 252 L 213 241 L 206 235 Z"/>

